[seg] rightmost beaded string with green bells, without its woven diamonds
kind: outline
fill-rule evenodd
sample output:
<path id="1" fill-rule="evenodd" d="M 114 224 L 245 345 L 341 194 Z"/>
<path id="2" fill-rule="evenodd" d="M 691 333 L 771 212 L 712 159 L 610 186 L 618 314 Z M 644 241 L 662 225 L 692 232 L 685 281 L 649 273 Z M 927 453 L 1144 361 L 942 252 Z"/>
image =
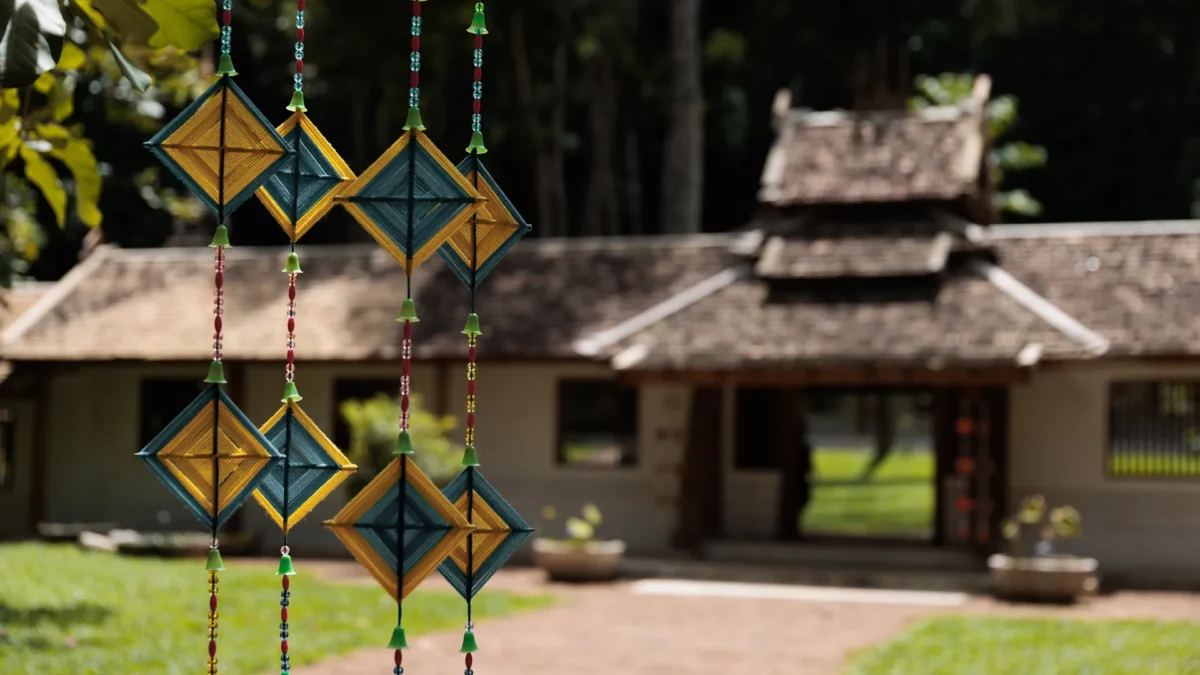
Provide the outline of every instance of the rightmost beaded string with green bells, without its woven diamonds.
<path id="1" fill-rule="evenodd" d="M 475 50 L 472 64 L 474 66 L 474 83 L 472 85 L 472 115 L 470 115 L 470 145 L 467 153 L 472 156 L 474 171 L 472 178 L 474 187 L 479 190 L 479 156 L 487 153 L 484 145 L 484 36 L 487 35 L 487 24 L 484 16 L 484 4 L 475 4 L 475 16 L 470 22 L 467 32 L 475 36 Z M 481 331 L 479 329 L 479 316 L 475 313 L 475 289 L 478 287 L 476 270 L 479 269 L 479 214 L 470 217 L 470 313 L 467 317 L 467 327 L 463 334 L 467 335 L 467 430 L 466 448 L 463 450 L 462 465 L 467 471 L 467 522 L 474 522 L 475 515 L 475 467 L 479 466 L 479 455 L 475 450 L 475 376 L 478 374 L 476 347 Z M 472 621 L 472 595 L 475 574 L 475 534 L 467 534 L 467 625 L 464 627 L 462 650 L 466 664 L 464 675 L 474 675 L 474 653 L 479 647 L 475 644 L 475 625 Z"/>

